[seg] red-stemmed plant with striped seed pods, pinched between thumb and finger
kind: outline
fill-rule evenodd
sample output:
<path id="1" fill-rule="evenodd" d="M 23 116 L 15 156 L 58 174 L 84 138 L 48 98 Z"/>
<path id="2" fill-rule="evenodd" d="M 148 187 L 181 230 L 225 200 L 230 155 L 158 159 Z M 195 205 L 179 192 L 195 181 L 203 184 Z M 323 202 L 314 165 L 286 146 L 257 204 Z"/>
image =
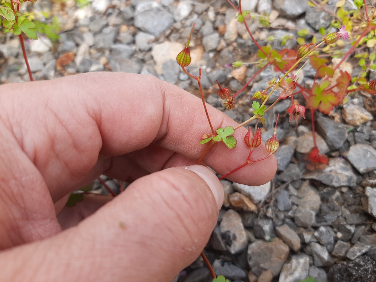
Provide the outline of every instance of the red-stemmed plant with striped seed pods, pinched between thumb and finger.
<path id="1" fill-rule="evenodd" d="M 364 72 L 362 72 L 362 74 L 358 77 L 351 77 L 349 72 L 341 69 L 341 64 L 343 64 L 344 60 L 350 54 L 358 52 L 358 49 L 360 49 L 359 46 L 363 42 L 365 42 L 365 40 L 374 38 L 374 45 L 376 45 L 376 36 L 374 32 L 374 29 L 376 29 L 376 24 L 373 23 L 373 21 L 375 20 L 376 10 L 373 8 L 373 11 L 368 12 L 368 7 L 365 0 L 357 0 L 356 5 L 358 6 L 358 10 L 354 12 L 352 15 L 349 15 L 348 13 L 344 12 L 344 10 L 341 8 L 338 9 L 338 17 L 332 23 L 332 25 L 337 28 L 337 32 L 331 32 L 325 35 L 325 30 L 320 29 L 320 32 L 323 33 L 323 35 L 325 35 L 321 42 L 317 43 L 315 36 L 312 38 L 312 42 L 309 43 L 305 43 L 304 38 L 298 38 L 297 41 L 302 42 L 303 44 L 301 44 L 301 47 L 297 52 L 291 49 L 283 49 L 277 52 L 276 50 L 271 49 L 270 45 L 261 46 L 255 40 L 247 24 L 247 20 L 251 18 L 251 13 L 250 11 L 242 11 L 241 0 L 239 1 L 238 8 L 235 7 L 230 0 L 227 1 L 238 12 L 238 15 L 236 17 L 238 22 L 240 24 L 244 24 L 248 34 L 250 35 L 250 38 L 258 47 L 257 57 L 259 59 L 259 70 L 256 71 L 256 73 L 250 78 L 250 80 L 247 81 L 247 83 L 237 93 L 232 94 L 231 96 L 229 93 L 229 89 L 222 87 L 217 81 L 219 88 L 217 94 L 222 100 L 225 100 L 224 105 L 226 106 L 226 109 L 232 109 L 235 106 L 235 98 L 238 96 L 238 94 L 240 94 L 244 89 L 246 89 L 247 85 L 249 85 L 249 83 L 266 67 L 271 67 L 275 71 L 280 71 L 283 75 L 282 77 L 278 77 L 278 80 L 274 79 L 270 81 L 264 90 L 257 91 L 253 94 L 251 98 L 252 100 L 261 100 L 261 103 L 254 101 L 252 104 L 252 112 L 254 114 L 253 117 L 249 118 L 248 120 L 244 121 L 236 127 L 226 126 L 224 129 L 214 129 L 211 124 L 208 111 L 206 110 L 205 100 L 203 97 L 203 92 L 200 84 L 201 69 L 199 69 L 198 77 L 189 74 L 185 70 L 185 67 L 188 66 L 191 62 L 189 52 L 189 42 L 192 36 L 191 32 L 190 38 L 188 39 L 185 49 L 182 52 L 180 52 L 177 56 L 177 63 L 182 67 L 183 71 L 186 74 L 188 74 L 188 76 L 193 77 L 197 81 L 200 89 L 203 107 L 205 109 L 209 127 L 211 129 L 210 133 L 203 135 L 201 138 L 200 144 L 205 144 L 207 147 L 197 163 L 199 164 L 202 161 L 204 156 L 209 152 L 210 148 L 214 146 L 214 144 L 217 142 L 223 142 L 229 149 L 235 147 L 237 144 L 237 140 L 235 140 L 232 134 L 236 129 L 248 124 L 250 121 L 255 119 L 257 119 L 264 125 L 265 119 L 263 118 L 263 115 L 267 111 L 269 111 L 274 105 L 276 105 L 276 103 L 278 103 L 280 100 L 290 98 L 291 106 L 287 109 L 289 121 L 291 121 L 291 119 L 294 119 L 297 126 L 300 117 L 302 117 L 303 119 L 305 118 L 306 109 L 309 109 L 309 112 L 311 114 L 313 132 L 312 138 L 314 147 L 308 154 L 309 160 L 313 164 L 328 164 L 328 158 L 325 155 L 320 154 L 316 145 L 314 114 L 315 111 L 319 111 L 324 114 L 329 114 L 329 112 L 331 112 L 335 106 L 345 103 L 347 100 L 347 96 L 354 91 L 365 91 L 375 95 L 376 79 L 367 83 L 365 80 L 365 76 L 366 71 L 369 70 L 371 67 L 376 69 L 376 64 L 374 64 L 374 66 L 368 65 L 367 67 L 364 59 L 363 61 L 359 60 L 359 65 L 362 67 L 362 70 L 364 70 Z M 310 6 L 315 6 L 314 3 L 310 1 L 308 2 Z M 260 20 L 260 23 L 265 26 L 265 17 L 263 17 L 262 20 Z M 352 27 L 353 29 L 351 29 Z M 349 34 L 350 31 L 352 31 L 351 36 Z M 303 32 L 300 33 L 300 35 L 302 34 Z M 305 33 L 305 35 L 307 34 L 308 33 Z M 329 52 L 331 46 L 335 45 L 340 39 L 343 40 L 345 43 L 349 41 L 350 38 L 354 39 L 355 41 L 351 42 L 352 47 L 345 54 L 341 54 L 342 58 L 339 62 L 335 63 L 333 61 L 332 64 L 330 64 L 331 62 L 329 59 L 324 59 L 321 56 L 319 56 L 320 52 Z M 341 45 L 343 44 L 341 43 Z M 335 55 L 338 57 L 337 53 L 335 53 Z M 371 61 L 373 61 L 374 59 L 376 59 L 376 54 L 373 54 Z M 316 71 L 313 85 L 311 88 L 305 88 L 303 85 L 300 85 L 300 83 L 297 81 L 299 70 L 296 71 L 296 68 L 302 68 L 303 65 L 307 62 L 309 62 L 312 68 L 314 68 L 314 70 Z M 233 67 L 240 67 L 242 65 L 247 65 L 247 63 L 236 61 L 232 64 Z M 276 102 L 272 103 L 270 106 L 267 107 L 266 102 L 277 88 L 281 89 L 281 92 Z M 298 100 L 294 99 L 297 94 L 300 94 L 302 96 L 305 105 L 300 105 Z M 240 165 L 239 167 L 230 171 L 229 173 L 224 174 L 220 177 L 220 179 L 227 177 L 229 174 L 245 167 L 247 164 L 261 161 L 265 158 L 268 158 L 273 153 L 276 153 L 279 147 L 279 141 L 276 138 L 276 130 L 277 122 L 274 127 L 274 133 L 272 137 L 265 142 L 265 148 L 268 152 L 268 155 L 260 159 L 252 159 L 253 150 L 261 144 L 261 134 L 257 122 L 255 129 L 253 131 L 249 127 L 248 132 L 244 136 L 244 142 L 250 149 L 249 155 L 246 158 L 246 162 L 244 162 L 243 165 Z M 208 263 L 203 253 L 202 256 L 206 264 L 208 265 L 209 270 L 211 270 L 211 274 L 214 279 L 213 282 L 218 281 L 218 279 L 224 279 L 224 277 L 220 278 L 220 276 L 216 278 L 214 271 L 212 270 L 210 264 Z"/>

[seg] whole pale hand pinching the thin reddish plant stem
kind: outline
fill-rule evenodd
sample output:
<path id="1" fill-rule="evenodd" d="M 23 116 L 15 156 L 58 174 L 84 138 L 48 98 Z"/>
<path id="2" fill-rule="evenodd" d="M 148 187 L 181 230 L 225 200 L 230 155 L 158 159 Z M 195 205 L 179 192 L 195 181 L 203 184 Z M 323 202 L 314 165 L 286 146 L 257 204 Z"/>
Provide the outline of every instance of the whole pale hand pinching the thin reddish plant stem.
<path id="1" fill-rule="evenodd" d="M 0 86 L 0 281 L 171 281 L 193 262 L 223 202 L 215 174 L 193 165 L 210 131 L 201 103 L 136 74 Z M 216 128 L 237 125 L 208 112 Z M 235 131 L 232 151 L 215 144 L 203 163 L 219 174 L 243 164 L 246 132 Z M 252 156 L 265 155 L 261 144 Z M 261 185 L 276 167 L 271 156 L 228 179 Z M 135 181 L 114 200 L 64 208 L 100 174 Z"/>

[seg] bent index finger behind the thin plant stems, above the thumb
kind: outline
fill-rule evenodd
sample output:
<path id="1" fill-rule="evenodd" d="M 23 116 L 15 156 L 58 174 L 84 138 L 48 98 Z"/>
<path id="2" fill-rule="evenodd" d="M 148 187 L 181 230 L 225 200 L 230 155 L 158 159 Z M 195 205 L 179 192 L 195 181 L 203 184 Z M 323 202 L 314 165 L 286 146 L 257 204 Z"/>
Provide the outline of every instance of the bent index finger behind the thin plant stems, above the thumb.
<path id="1" fill-rule="evenodd" d="M 15 85 L 11 86 L 14 92 Z M 16 88 L 13 100 L 2 99 L 2 105 L 13 106 L 12 124 L 27 124 L 19 143 L 27 148 L 52 194 L 58 193 L 58 186 L 84 179 L 98 157 L 124 155 L 153 142 L 198 159 L 206 148 L 199 144 L 200 137 L 211 132 L 199 98 L 152 76 L 88 73 Z M 208 112 L 214 129 L 237 125 L 211 106 Z M 220 174 L 243 164 L 249 152 L 242 141 L 245 133 L 243 127 L 235 131 L 238 144 L 232 150 L 215 144 L 205 163 Z M 30 144 L 30 140 L 37 141 Z M 266 154 L 259 146 L 253 156 Z M 232 179 L 258 185 L 270 180 L 275 171 L 275 159 L 268 158 L 247 165 Z"/>

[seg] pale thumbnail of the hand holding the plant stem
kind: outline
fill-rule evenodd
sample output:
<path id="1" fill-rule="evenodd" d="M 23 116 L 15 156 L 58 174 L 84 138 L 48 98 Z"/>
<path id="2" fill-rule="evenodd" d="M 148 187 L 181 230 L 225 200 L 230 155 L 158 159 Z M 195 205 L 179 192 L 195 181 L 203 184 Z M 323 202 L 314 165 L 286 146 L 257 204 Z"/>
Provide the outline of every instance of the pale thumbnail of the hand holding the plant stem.
<path id="1" fill-rule="evenodd" d="M 203 165 L 190 165 L 186 166 L 185 169 L 193 171 L 198 176 L 200 176 L 206 182 L 206 184 L 208 184 L 214 196 L 215 202 L 217 203 L 219 211 L 222 207 L 224 194 L 221 182 L 219 182 L 218 177 L 213 173 L 213 171 Z"/>

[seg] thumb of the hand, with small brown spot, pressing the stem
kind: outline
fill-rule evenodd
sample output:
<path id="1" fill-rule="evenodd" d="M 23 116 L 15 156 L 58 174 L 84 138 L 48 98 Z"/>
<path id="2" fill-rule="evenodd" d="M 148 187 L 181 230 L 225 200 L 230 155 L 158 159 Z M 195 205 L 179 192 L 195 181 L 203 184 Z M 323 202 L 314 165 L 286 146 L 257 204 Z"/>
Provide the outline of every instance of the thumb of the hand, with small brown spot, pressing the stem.
<path id="1" fill-rule="evenodd" d="M 205 247 L 222 202 L 201 165 L 150 174 L 76 227 L 3 251 L 0 281 L 171 281 Z"/>

